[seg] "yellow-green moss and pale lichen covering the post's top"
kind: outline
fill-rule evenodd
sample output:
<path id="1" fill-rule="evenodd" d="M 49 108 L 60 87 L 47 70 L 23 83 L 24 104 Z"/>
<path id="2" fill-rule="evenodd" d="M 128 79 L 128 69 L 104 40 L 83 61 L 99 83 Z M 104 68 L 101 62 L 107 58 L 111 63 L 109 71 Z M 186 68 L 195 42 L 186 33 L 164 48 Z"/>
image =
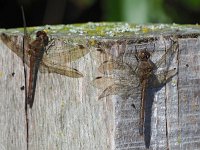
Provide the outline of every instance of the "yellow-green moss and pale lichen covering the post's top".
<path id="1" fill-rule="evenodd" d="M 101 23 L 82 23 L 69 25 L 46 25 L 42 27 L 29 27 L 29 33 L 38 30 L 46 30 L 48 34 L 62 34 L 71 36 L 85 36 L 95 38 L 114 38 L 114 37 L 133 37 L 133 36 L 152 36 L 166 32 L 193 31 L 200 32 L 199 25 L 177 25 L 177 24 L 149 24 L 136 25 L 122 22 L 101 22 Z M 16 32 L 16 29 L 9 29 Z M 23 28 L 18 28 L 18 32 L 23 33 Z"/>

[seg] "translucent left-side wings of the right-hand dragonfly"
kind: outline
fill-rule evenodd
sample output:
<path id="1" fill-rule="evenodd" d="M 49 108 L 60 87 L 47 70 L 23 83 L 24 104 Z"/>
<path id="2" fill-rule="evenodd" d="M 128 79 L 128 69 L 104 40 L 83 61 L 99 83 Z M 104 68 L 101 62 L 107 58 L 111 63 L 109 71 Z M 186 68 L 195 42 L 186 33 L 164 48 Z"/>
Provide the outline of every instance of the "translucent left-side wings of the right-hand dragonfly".
<path id="1" fill-rule="evenodd" d="M 104 77 L 97 77 L 92 81 L 92 85 L 104 89 L 99 99 L 109 95 L 130 96 L 132 91 L 139 86 L 139 80 L 131 68 L 117 61 L 105 61 L 99 67 L 99 71 L 105 74 Z M 111 74 L 112 76 L 106 76 Z"/>

